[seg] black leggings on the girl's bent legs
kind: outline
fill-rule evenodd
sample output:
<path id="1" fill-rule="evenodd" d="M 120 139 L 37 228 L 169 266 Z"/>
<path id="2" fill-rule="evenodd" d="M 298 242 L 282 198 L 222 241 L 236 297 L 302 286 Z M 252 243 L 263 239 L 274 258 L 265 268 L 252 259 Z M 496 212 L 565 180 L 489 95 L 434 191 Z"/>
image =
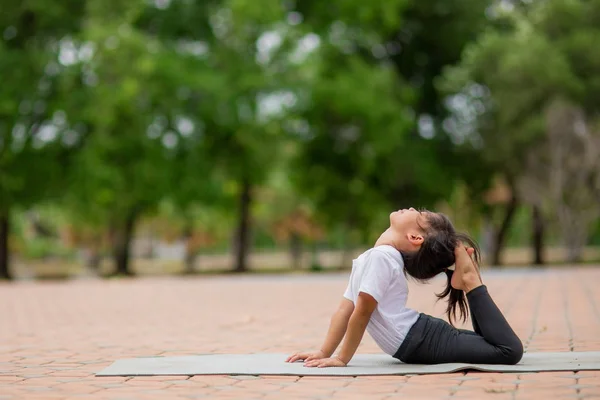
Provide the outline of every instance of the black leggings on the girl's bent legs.
<path id="1" fill-rule="evenodd" d="M 404 363 L 516 364 L 523 344 L 488 294 L 485 286 L 467 293 L 475 332 L 421 314 L 394 355 Z"/>

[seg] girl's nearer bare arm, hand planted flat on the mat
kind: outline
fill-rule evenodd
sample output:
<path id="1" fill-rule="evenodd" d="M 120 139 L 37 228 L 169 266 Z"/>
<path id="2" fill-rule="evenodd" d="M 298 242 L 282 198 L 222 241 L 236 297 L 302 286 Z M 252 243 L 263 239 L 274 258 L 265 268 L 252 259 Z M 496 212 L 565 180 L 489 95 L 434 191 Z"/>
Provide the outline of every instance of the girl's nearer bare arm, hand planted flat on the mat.
<path id="1" fill-rule="evenodd" d="M 376 307 L 377 301 L 371 295 L 361 292 L 358 295 L 356 307 L 354 308 L 354 311 L 352 312 L 352 315 L 348 321 L 346 340 L 344 340 L 344 344 L 342 345 L 339 355 L 334 358 L 313 360 L 307 363 L 306 366 L 335 367 L 347 365 L 352 357 L 354 357 L 354 353 L 356 353 L 356 349 L 358 349 L 358 345 L 360 344 L 360 341 L 365 334 L 365 330 L 367 329 L 367 325 L 369 324 L 371 314 Z"/>

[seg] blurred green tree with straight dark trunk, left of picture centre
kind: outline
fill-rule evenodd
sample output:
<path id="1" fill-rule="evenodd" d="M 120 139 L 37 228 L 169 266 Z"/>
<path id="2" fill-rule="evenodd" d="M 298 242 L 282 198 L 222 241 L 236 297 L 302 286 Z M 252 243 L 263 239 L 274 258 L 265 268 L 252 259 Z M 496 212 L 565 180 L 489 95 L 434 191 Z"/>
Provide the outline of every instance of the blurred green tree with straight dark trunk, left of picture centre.
<path id="1" fill-rule="evenodd" d="M 236 271 L 247 268 L 253 189 L 264 182 L 279 153 L 282 108 L 286 98 L 290 101 L 283 19 L 278 0 L 228 0 L 172 1 L 149 7 L 138 21 L 210 68 L 210 90 L 197 79 L 185 91 L 196 99 L 190 111 L 201 116 L 203 154 L 210 156 L 213 168 L 236 181 Z"/>

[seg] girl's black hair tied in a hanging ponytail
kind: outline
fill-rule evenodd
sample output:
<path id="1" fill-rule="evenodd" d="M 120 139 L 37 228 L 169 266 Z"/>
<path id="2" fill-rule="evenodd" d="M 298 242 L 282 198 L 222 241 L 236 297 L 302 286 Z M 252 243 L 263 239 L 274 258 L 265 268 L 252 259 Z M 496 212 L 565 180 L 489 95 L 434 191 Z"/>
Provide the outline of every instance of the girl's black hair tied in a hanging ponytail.
<path id="1" fill-rule="evenodd" d="M 437 293 L 438 299 L 447 297 L 448 305 L 446 314 L 448 320 L 454 325 L 456 309 L 459 309 L 460 319 L 464 322 L 469 315 L 467 299 L 462 290 L 454 289 L 451 285 L 453 271 L 448 268 L 454 265 L 454 250 L 461 243 L 474 249 L 475 262 L 479 265 L 479 246 L 469 235 L 457 232 L 450 219 L 441 213 L 427 212 L 427 226 L 422 227 L 425 237 L 419 250 L 414 252 L 401 252 L 404 259 L 404 273 L 417 281 L 428 281 L 434 276 L 445 272 L 448 279 L 446 288 Z"/>

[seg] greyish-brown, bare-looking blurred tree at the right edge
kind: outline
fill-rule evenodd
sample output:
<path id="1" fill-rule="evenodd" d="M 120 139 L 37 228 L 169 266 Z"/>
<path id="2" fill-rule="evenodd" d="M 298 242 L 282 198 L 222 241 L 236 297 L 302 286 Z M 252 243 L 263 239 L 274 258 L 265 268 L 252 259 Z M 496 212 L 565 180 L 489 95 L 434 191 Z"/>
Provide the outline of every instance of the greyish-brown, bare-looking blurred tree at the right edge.
<path id="1" fill-rule="evenodd" d="M 545 110 L 543 146 L 528 159 L 531 173 L 523 185 L 532 198 L 549 199 L 564 233 L 567 261 L 580 262 L 594 221 L 600 216 L 597 190 L 600 134 L 593 131 L 580 106 L 555 99 Z"/>

